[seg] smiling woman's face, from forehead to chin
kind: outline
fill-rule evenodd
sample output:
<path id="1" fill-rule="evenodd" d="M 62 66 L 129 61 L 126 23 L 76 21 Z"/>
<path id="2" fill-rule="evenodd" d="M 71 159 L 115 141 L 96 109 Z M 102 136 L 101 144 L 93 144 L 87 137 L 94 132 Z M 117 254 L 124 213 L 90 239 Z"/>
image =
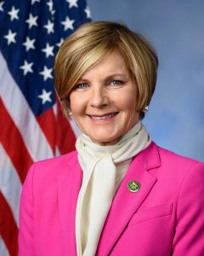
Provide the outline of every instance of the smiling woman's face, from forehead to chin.
<path id="1" fill-rule="evenodd" d="M 115 144 L 139 121 L 136 85 L 116 50 L 82 75 L 70 101 L 78 127 L 94 143 Z"/>

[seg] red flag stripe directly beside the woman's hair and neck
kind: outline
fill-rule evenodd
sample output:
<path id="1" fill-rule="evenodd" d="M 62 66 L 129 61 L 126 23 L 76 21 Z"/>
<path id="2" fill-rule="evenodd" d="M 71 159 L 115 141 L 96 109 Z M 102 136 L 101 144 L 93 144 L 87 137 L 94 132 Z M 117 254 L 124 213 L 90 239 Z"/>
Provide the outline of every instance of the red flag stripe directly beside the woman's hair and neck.
<path id="1" fill-rule="evenodd" d="M 65 154 L 75 150 L 76 136 L 69 121 L 63 116 L 59 102 L 57 102 L 56 133 L 56 144 L 59 148 L 60 154 Z"/>

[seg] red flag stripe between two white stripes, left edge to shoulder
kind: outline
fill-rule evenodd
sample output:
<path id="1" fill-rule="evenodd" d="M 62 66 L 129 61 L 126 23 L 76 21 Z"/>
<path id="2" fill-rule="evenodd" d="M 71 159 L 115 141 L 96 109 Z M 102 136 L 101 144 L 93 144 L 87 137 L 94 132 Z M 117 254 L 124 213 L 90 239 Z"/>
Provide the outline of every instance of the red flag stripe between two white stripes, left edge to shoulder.
<path id="1" fill-rule="evenodd" d="M 33 161 L 20 135 L 20 131 L 15 126 L 13 119 L 9 116 L 1 98 L 0 116 L 0 141 L 3 143 L 3 148 L 7 152 L 23 183 Z"/>

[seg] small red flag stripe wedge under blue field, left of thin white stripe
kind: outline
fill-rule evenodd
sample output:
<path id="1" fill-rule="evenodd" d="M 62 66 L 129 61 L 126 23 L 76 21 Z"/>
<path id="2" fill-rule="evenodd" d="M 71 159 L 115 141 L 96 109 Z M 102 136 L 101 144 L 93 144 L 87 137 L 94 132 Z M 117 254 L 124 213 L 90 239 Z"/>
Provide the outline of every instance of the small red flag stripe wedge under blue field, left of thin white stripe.
<path id="1" fill-rule="evenodd" d="M 54 153 L 56 137 L 54 127 L 55 117 L 53 108 L 48 108 L 48 110 L 46 110 L 44 113 L 41 113 L 39 116 L 37 116 L 37 121 Z"/>

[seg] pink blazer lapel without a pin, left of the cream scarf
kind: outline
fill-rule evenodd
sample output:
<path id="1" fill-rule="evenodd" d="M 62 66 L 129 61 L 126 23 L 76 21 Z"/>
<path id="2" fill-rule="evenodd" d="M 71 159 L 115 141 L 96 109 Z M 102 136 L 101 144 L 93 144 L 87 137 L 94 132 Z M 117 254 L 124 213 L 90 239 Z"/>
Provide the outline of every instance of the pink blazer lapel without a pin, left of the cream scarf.
<path id="1" fill-rule="evenodd" d="M 71 166 L 66 166 L 58 178 L 59 220 L 65 255 L 77 256 L 75 217 L 81 184 L 82 169 L 76 158 L 76 162 Z"/>

